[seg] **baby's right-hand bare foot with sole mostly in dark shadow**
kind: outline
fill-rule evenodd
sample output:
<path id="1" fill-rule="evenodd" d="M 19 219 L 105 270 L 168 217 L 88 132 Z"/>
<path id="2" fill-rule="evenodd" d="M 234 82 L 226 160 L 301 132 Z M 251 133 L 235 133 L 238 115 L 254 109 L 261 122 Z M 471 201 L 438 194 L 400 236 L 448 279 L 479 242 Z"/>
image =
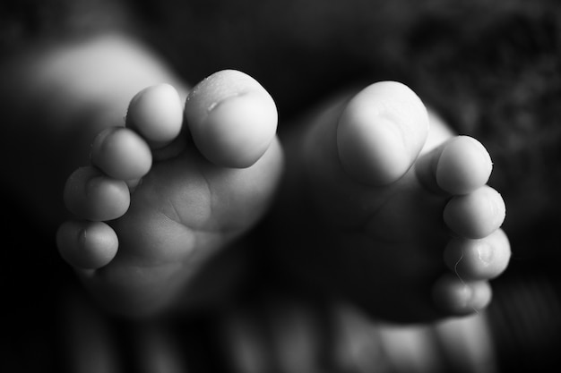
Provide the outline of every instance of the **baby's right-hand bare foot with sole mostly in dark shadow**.
<path id="1" fill-rule="evenodd" d="M 278 254 L 299 278 L 396 321 L 488 304 L 510 257 L 505 204 L 486 185 L 487 150 L 430 116 L 409 88 L 379 82 L 288 141 L 297 238 Z"/>

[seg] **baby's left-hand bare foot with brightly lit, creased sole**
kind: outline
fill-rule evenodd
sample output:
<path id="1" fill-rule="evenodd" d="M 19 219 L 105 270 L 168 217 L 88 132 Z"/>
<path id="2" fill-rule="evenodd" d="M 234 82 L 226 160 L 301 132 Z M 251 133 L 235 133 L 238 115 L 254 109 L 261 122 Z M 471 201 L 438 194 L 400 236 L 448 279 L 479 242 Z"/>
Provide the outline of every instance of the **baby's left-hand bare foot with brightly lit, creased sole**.
<path id="1" fill-rule="evenodd" d="M 211 75 L 185 109 L 169 85 L 142 90 L 126 126 L 101 131 L 91 165 L 66 182 L 65 204 L 83 220 L 59 228 L 62 257 L 117 312 L 188 301 L 208 259 L 268 207 L 283 162 L 276 125 L 272 98 L 242 72 Z"/>

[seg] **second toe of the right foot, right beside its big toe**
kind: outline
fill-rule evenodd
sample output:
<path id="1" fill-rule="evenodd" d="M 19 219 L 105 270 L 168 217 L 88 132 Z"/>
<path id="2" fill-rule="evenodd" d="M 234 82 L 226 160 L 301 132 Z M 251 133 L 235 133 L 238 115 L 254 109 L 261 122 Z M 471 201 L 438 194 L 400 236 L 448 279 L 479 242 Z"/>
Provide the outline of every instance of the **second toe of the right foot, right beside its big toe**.
<path id="1" fill-rule="evenodd" d="M 478 140 L 456 136 L 419 157 L 415 171 L 430 190 L 467 194 L 488 182 L 493 164 Z"/>

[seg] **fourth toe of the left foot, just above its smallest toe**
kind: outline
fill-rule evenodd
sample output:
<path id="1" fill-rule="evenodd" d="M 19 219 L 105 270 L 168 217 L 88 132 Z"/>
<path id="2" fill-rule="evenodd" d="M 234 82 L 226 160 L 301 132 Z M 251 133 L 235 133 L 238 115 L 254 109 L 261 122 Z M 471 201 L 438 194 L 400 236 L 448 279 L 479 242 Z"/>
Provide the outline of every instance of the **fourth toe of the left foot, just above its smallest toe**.
<path id="1" fill-rule="evenodd" d="M 109 178 L 91 166 L 78 168 L 70 175 L 64 198 L 69 211 L 92 221 L 116 219 L 130 205 L 126 183 Z"/>

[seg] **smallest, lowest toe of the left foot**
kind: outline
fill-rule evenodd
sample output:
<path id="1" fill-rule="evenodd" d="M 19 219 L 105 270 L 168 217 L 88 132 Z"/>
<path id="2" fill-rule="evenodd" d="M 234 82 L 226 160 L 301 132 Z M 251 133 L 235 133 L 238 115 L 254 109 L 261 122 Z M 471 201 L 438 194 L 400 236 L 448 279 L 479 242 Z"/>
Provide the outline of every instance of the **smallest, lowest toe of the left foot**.
<path id="1" fill-rule="evenodd" d="M 68 221 L 58 228 L 56 245 L 71 266 L 97 269 L 115 258 L 118 240 L 105 223 Z"/>

